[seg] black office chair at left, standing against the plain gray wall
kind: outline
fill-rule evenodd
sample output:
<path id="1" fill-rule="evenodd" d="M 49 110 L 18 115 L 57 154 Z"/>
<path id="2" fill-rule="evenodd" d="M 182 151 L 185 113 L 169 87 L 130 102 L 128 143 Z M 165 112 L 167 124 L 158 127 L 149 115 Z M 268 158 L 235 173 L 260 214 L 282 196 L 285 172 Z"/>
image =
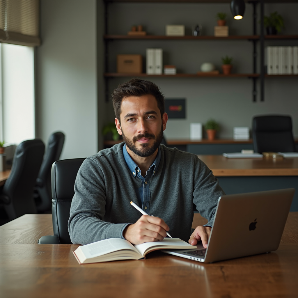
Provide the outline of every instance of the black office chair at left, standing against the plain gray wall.
<path id="1" fill-rule="evenodd" d="M 64 144 L 65 135 L 58 131 L 49 138 L 44 160 L 39 170 L 35 185 L 35 203 L 38 212 L 51 210 L 51 167 L 53 162 L 59 159 Z"/>

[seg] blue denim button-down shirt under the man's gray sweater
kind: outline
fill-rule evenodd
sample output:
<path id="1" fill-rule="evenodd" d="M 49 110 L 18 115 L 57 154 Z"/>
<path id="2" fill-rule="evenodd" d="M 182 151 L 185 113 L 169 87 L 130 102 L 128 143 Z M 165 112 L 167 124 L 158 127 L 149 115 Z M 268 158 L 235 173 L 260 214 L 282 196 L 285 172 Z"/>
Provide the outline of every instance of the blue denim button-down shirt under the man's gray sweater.
<path id="1" fill-rule="evenodd" d="M 142 187 L 135 188 L 136 197 L 138 198 L 139 207 L 141 207 L 148 215 L 150 215 L 149 202 L 150 202 L 150 178 L 157 174 L 159 162 L 160 162 L 160 148 L 158 148 L 156 159 L 146 172 L 145 177 L 141 175 L 141 169 L 132 160 L 131 156 L 126 150 L 126 145 L 123 146 L 123 156 L 127 164 L 128 169 L 134 175 L 136 179 L 141 179 Z"/>

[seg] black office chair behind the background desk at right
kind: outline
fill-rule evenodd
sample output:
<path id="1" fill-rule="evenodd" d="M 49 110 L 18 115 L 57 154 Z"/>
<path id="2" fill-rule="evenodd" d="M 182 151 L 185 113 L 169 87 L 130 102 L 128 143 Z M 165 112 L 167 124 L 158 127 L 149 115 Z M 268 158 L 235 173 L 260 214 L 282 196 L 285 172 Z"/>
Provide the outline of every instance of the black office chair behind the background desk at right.
<path id="1" fill-rule="evenodd" d="M 291 116 L 257 116 L 252 121 L 255 152 L 295 152 Z"/>

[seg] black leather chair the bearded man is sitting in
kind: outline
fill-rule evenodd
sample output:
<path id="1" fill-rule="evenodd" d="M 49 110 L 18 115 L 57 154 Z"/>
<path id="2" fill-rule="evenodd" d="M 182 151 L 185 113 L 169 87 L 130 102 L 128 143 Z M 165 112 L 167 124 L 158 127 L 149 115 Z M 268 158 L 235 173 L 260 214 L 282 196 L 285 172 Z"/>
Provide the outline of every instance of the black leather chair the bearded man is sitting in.
<path id="1" fill-rule="evenodd" d="M 54 236 L 43 236 L 38 244 L 72 244 L 68 233 L 69 210 L 75 194 L 77 172 L 84 158 L 64 159 L 52 165 L 52 220 Z"/>

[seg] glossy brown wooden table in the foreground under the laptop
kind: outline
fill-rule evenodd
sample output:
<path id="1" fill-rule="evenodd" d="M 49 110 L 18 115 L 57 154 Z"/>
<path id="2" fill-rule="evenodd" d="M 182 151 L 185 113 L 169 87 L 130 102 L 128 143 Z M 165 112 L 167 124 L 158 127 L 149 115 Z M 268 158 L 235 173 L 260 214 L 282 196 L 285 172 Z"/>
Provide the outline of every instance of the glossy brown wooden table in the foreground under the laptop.
<path id="1" fill-rule="evenodd" d="M 1 297 L 297 297 L 298 212 L 277 251 L 213 264 L 152 252 L 79 265 L 77 245 L 36 244 L 51 226 L 50 215 L 24 215 L 0 227 Z"/>

